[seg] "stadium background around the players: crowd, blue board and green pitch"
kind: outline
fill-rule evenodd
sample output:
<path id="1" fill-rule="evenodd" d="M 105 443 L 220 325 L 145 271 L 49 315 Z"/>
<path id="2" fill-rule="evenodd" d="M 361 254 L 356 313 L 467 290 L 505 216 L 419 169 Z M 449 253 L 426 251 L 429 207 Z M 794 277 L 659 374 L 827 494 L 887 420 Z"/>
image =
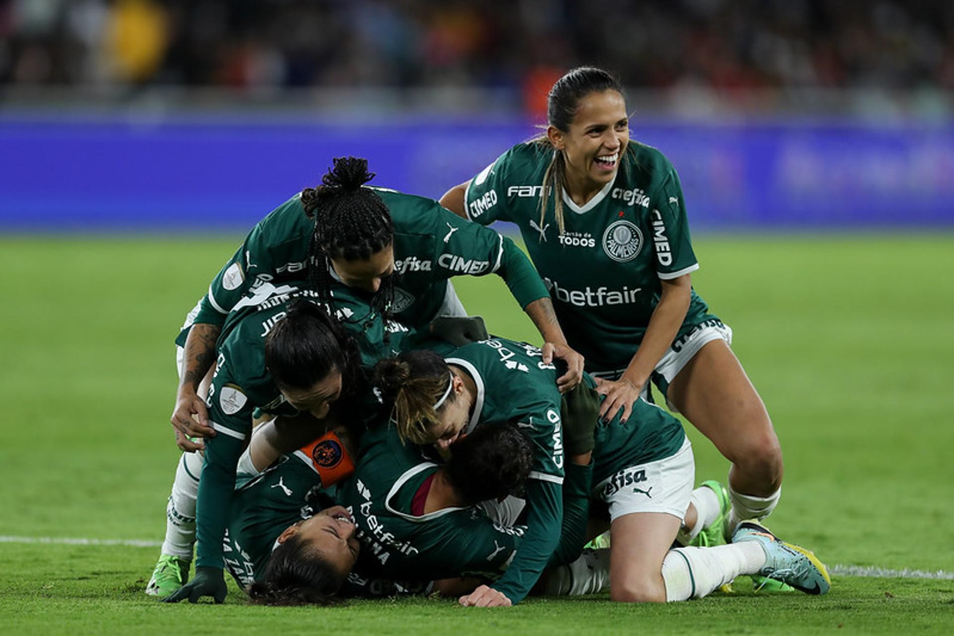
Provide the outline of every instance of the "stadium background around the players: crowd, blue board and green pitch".
<path id="1" fill-rule="evenodd" d="M 680 173 L 696 288 L 736 329 L 786 453 L 774 526 L 844 566 L 812 603 L 601 604 L 587 626 L 697 629 L 701 613 L 713 631 L 949 629 L 954 4 L 927 0 L 0 0 L 6 628 L 204 620 L 141 596 L 155 547 L 89 544 L 161 539 L 186 310 L 332 156 L 439 197 L 534 134 L 546 90 L 580 63 L 621 76 L 634 138 Z M 460 288 L 492 329 L 533 338 L 497 281 Z M 694 441 L 699 476 L 724 476 Z M 356 630 L 464 620 L 389 607 L 334 611 Z M 494 620 L 580 616 L 519 612 Z M 301 616 L 218 615 L 289 631 Z"/>

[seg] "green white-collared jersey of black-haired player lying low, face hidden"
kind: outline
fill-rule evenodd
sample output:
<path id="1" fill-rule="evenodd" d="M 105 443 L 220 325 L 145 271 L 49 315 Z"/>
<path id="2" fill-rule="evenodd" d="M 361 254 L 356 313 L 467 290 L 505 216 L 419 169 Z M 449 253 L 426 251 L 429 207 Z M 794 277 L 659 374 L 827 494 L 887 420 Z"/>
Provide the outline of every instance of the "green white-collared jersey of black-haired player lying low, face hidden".
<path id="1" fill-rule="evenodd" d="M 338 499 L 357 523 L 363 571 L 385 577 L 495 579 L 507 568 L 524 528 L 492 523 L 477 507 L 451 507 L 415 516 L 411 503 L 438 464 L 404 444 L 393 426 L 370 428 L 352 477 Z"/>

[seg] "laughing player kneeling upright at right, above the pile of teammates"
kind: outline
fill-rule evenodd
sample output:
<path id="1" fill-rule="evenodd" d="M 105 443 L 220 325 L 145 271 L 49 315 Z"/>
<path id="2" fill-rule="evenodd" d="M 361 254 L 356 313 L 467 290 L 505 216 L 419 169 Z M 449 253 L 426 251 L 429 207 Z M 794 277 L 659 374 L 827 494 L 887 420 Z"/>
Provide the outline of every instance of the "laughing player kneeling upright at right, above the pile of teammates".
<path id="1" fill-rule="evenodd" d="M 732 462 L 729 529 L 775 508 L 781 449 L 756 389 L 729 348 L 732 330 L 695 294 L 698 269 L 678 176 L 631 142 L 622 87 L 584 67 L 550 91 L 547 133 L 444 195 L 480 224 L 520 227 L 570 345 L 626 420 L 653 380 L 668 403 Z"/>

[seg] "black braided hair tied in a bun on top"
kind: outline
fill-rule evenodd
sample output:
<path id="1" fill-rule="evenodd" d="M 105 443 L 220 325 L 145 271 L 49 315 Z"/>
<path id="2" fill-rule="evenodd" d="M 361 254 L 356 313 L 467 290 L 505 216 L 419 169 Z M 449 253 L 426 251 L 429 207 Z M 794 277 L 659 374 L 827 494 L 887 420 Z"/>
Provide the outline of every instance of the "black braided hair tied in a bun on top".
<path id="1" fill-rule="evenodd" d="M 321 185 L 301 191 L 304 214 L 315 221 L 308 244 L 308 277 L 322 302 L 332 307 L 328 258 L 363 260 L 394 242 L 394 224 L 384 201 L 363 184 L 374 178 L 367 159 L 335 157 Z M 394 299 L 392 277 L 385 277 L 372 307 L 389 318 Z"/>

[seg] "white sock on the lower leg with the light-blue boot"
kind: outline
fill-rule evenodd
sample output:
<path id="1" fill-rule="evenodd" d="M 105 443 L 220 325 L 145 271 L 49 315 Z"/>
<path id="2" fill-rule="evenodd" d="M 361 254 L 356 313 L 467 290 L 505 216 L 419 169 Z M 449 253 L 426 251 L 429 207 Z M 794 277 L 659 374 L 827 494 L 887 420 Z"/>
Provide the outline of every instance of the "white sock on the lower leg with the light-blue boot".
<path id="1" fill-rule="evenodd" d="M 679 547 L 662 562 L 667 601 L 701 599 L 740 574 L 757 574 L 765 564 L 765 551 L 756 542 Z"/>

